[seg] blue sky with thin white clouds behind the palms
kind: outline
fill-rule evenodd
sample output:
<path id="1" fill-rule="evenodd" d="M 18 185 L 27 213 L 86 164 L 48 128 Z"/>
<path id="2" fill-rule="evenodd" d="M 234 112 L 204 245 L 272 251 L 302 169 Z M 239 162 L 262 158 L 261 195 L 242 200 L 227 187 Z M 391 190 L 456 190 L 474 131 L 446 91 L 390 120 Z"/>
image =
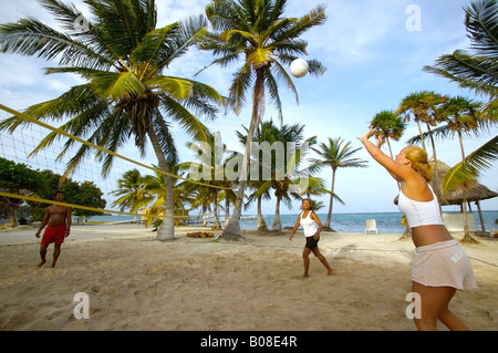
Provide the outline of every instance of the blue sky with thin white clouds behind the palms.
<path id="1" fill-rule="evenodd" d="M 81 1 L 74 1 L 84 11 Z M 156 1 L 158 25 L 165 25 L 191 14 L 200 14 L 208 0 L 166 0 Z M 286 15 L 301 17 L 319 3 L 326 4 L 325 24 L 310 30 L 304 39 L 309 42 L 309 56 L 318 59 L 328 69 L 326 73 L 314 79 L 305 76 L 295 79 L 300 104 L 297 105 L 290 91 L 281 89 L 283 117 L 286 124 L 304 124 L 305 137 L 318 136 L 319 142 L 329 137 L 341 137 L 351 142 L 354 148 L 362 147 L 356 139 L 362 135 L 373 116 L 384 110 L 396 110 L 403 97 L 411 93 L 428 90 L 450 96 L 463 95 L 475 98 L 474 94 L 459 89 L 455 83 L 423 72 L 424 65 L 434 64 L 435 60 L 449 54 L 456 49 L 468 49 L 469 40 L 465 31 L 463 7 L 470 4 L 464 0 L 289 0 Z M 412 6 L 412 7 L 411 7 Z M 407 10 L 419 10 L 419 17 Z M 35 1 L 18 0 L 2 3 L 0 22 L 12 22 L 33 15 L 45 23 L 53 23 L 51 15 Z M 419 22 L 413 22 L 419 20 Z M 408 24 L 419 24 L 419 30 L 411 30 Z M 184 60 L 170 68 L 165 74 L 193 77 L 201 68 L 209 64 L 209 53 L 191 51 Z M 54 66 L 34 58 L 0 54 L 0 103 L 22 110 L 27 106 L 59 96 L 71 85 L 81 81 L 73 76 L 44 76 L 42 68 Z M 232 70 L 209 68 L 196 77 L 221 94 L 227 94 Z M 0 113 L 0 118 L 6 117 Z M 231 149 L 241 150 L 235 132 L 248 126 L 250 106 L 240 115 L 220 114 L 207 126 L 221 134 L 222 142 Z M 278 122 L 276 111 L 267 105 L 266 120 Z M 465 141 L 465 150 L 470 153 L 497 134 L 495 128 L 479 138 Z M 409 123 L 405 135 L 398 143 L 393 143 L 397 153 L 406 141 L 417 134 L 415 123 Z M 175 136 L 184 160 L 191 160 L 185 143 L 188 137 L 177 128 Z M 449 166 L 460 160 L 457 139 L 437 143 L 438 158 Z M 122 154 L 139 159 L 133 145 Z M 432 152 L 429 150 L 429 155 Z M 345 206 L 335 203 L 334 212 L 397 211 L 393 199 L 397 195 L 396 183 L 362 148 L 355 157 L 370 162 L 367 168 L 340 169 L 336 174 L 335 193 Z M 145 163 L 155 163 L 152 150 Z M 489 189 L 498 191 L 498 167 L 487 170 L 479 181 Z M 331 173 L 323 170 L 320 175 L 330 187 Z M 98 183 L 97 183 L 98 184 Z M 328 205 L 328 197 L 321 198 Z M 293 209 L 281 208 L 282 214 L 294 214 Z M 481 203 L 485 210 L 498 210 L 498 198 Z M 475 209 L 475 207 L 474 207 Z M 264 214 L 272 214 L 274 199 L 263 206 Z M 445 207 L 444 210 L 458 210 Z M 322 211 L 326 211 L 324 208 Z M 253 214 L 253 208 L 248 214 Z"/>

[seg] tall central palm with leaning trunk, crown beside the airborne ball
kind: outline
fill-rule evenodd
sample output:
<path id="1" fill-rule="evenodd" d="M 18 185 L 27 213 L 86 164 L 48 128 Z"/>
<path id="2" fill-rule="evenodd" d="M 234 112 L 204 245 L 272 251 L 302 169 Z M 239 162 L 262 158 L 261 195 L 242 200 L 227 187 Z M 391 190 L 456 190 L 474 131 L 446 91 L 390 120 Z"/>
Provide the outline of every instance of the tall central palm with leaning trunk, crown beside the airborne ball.
<path id="1" fill-rule="evenodd" d="M 240 239 L 240 216 L 246 191 L 246 178 L 250 144 L 256 127 L 264 115 L 266 91 L 282 121 L 282 104 L 278 82 L 283 82 L 295 96 L 292 79 L 286 72 L 294 59 L 307 54 L 308 43 L 300 37 L 314 25 L 325 21 L 325 7 L 318 6 L 301 18 L 283 18 L 287 0 L 215 0 L 206 8 L 206 15 L 214 28 L 199 45 L 219 55 L 212 64 L 226 68 L 242 58 L 242 65 L 234 74 L 229 90 L 228 106 L 240 114 L 246 92 L 252 85 L 252 113 L 247 136 L 242 166 L 240 168 L 237 201 L 225 239 Z M 325 72 L 317 60 L 310 60 L 310 74 Z"/>

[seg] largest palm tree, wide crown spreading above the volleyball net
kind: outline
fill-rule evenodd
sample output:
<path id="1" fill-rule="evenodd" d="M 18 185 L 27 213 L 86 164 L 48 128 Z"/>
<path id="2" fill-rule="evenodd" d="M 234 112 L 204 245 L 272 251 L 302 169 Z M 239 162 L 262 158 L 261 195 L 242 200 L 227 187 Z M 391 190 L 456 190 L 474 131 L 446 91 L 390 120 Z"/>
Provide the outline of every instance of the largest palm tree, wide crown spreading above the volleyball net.
<path id="1" fill-rule="evenodd" d="M 39 0 L 62 24 L 58 31 L 34 18 L 0 25 L 0 51 L 59 59 L 59 68 L 46 74 L 71 73 L 86 82 L 71 87 L 61 96 L 30 106 L 25 113 L 37 120 L 68 121 L 59 128 L 102 146 L 111 152 L 122 149 L 133 138 L 142 155 L 152 143 L 166 188 L 165 219 L 157 239 L 174 239 L 174 195 L 170 162 L 177 162 L 177 149 L 170 125 L 177 123 L 187 134 L 206 139 L 207 129 L 195 114 L 214 118 L 224 98 L 203 83 L 164 75 L 169 65 L 198 43 L 207 32 L 204 17 L 191 17 L 156 29 L 154 0 L 86 1 L 93 19 L 87 29 L 75 31 L 81 11 L 72 3 Z M 13 132 L 28 124 L 17 117 L 4 120 L 1 129 Z M 56 138 L 49 134 L 33 150 L 48 147 Z M 60 158 L 74 144 L 68 138 Z M 82 145 L 70 159 L 65 175 L 92 154 Z M 107 175 L 113 155 L 95 154 L 103 160 Z"/>

